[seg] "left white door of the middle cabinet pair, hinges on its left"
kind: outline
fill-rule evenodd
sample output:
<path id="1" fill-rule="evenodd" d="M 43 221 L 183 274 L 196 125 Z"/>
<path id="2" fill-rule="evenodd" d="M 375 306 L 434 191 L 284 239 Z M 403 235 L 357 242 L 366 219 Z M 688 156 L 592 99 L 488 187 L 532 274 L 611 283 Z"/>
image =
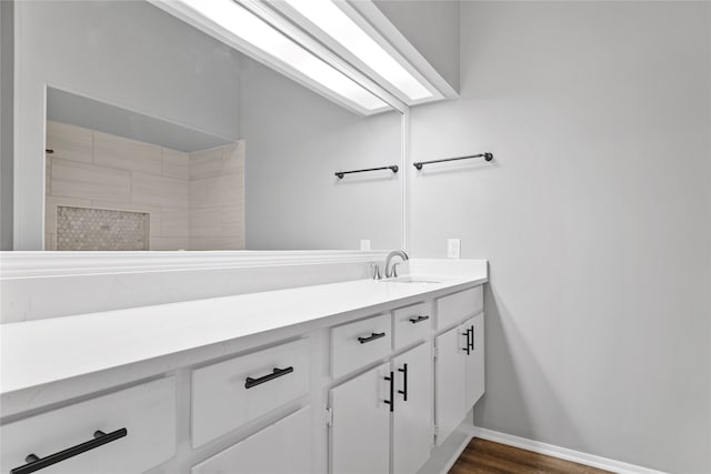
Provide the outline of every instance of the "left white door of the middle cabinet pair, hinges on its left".
<path id="1" fill-rule="evenodd" d="M 390 363 L 329 391 L 331 474 L 390 471 Z"/>

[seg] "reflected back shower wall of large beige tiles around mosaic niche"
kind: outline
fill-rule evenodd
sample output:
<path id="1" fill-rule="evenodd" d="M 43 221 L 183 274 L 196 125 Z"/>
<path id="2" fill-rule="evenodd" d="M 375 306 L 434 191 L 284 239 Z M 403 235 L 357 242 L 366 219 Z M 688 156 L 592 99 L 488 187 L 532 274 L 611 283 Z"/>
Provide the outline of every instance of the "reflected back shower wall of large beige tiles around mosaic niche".
<path id="1" fill-rule="evenodd" d="M 147 213 L 151 250 L 188 249 L 187 153 L 53 121 L 47 148 L 47 250 L 57 250 L 58 205 Z"/>

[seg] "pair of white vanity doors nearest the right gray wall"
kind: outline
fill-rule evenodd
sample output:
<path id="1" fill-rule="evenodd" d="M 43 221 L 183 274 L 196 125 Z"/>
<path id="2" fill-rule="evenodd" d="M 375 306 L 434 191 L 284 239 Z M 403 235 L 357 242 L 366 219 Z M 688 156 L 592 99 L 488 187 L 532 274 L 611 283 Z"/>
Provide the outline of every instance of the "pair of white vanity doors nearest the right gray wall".
<path id="1" fill-rule="evenodd" d="M 435 423 L 441 445 L 484 392 L 484 315 L 435 337 Z"/>

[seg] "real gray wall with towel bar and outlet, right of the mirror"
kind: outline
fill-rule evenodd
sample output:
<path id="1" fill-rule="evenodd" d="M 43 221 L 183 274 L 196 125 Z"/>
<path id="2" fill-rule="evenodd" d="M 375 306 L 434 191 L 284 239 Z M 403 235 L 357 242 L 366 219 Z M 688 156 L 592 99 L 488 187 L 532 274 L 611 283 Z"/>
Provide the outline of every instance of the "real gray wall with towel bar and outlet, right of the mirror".
<path id="1" fill-rule="evenodd" d="M 711 3 L 462 2 L 412 251 L 490 261 L 478 425 L 711 472 Z M 410 167 L 412 168 L 412 167 Z"/>

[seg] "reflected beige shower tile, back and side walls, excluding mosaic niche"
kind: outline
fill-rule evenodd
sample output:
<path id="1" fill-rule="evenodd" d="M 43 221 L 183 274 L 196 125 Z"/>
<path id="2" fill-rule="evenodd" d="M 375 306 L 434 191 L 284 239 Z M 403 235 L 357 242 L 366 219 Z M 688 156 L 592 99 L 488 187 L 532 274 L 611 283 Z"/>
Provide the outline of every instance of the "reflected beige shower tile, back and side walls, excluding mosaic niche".
<path id="1" fill-rule="evenodd" d="M 194 201 L 196 211 L 211 211 L 212 216 L 218 209 L 224 212 L 204 221 L 204 229 L 203 221 L 196 221 L 194 245 L 243 249 L 243 144 L 206 152 L 219 154 L 219 161 L 198 157 L 194 178 L 188 153 L 60 122 L 47 122 L 47 148 L 53 150 L 47 154 L 47 250 L 57 250 L 58 205 L 146 213 L 150 250 L 192 250 L 193 183 L 199 196 L 201 186 L 210 185 L 210 199 Z M 212 168 L 206 169 L 208 164 Z M 239 202 L 219 202 L 233 198 Z"/>

